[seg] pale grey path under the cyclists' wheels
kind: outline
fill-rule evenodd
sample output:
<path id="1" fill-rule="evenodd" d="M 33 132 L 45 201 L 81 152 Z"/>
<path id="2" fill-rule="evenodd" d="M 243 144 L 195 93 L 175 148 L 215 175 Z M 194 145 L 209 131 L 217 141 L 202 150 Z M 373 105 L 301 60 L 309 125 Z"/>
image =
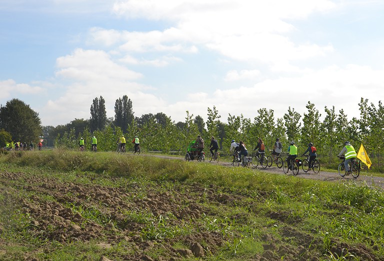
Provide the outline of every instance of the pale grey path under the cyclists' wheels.
<path id="1" fill-rule="evenodd" d="M 184 160 L 184 158 L 181 156 L 167 156 L 167 155 L 153 155 L 153 154 L 144 154 L 144 155 Z M 219 165 L 226 165 L 226 166 L 232 167 L 232 165 L 230 165 L 227 161 L 225 161 L 225 157 L 220 158 L 219 162 L 217 163 L 208 162 L 207 160 L 205 160 L 204 163 L 219 164 Z M 260 171 L 285 175 L 284 172 L 282 171 L 282 168 L 278 168 L 275 165 L 272 165 L 271 167 L 267 167 L 267 168 L 262 168 L 258 166 L 257 169 Z M 292 175 L 292 173 L 289 173 L 288 175 Z M 302 169 L 300 168 L 298 171 L 297 177 L 318 179 L 323 181 L 348 180 L 351 182 L 366 183 L 368 186 L 375 186 L 375 187 L 380 187 L 384 189 L 384 177 L 372 176 L 372 175 L 369 175 L 369 173 L 367 173 L 366 171 L 360 172 L 360 175 L 355 179 L 351 175 L 341 177 L 337 172 L 326 172 L 326 171 L 322 171 L 321 169 L 318 174 L 315 174 L 313 171 L 304 173 L 304 171 L 302 171 Z"/>

